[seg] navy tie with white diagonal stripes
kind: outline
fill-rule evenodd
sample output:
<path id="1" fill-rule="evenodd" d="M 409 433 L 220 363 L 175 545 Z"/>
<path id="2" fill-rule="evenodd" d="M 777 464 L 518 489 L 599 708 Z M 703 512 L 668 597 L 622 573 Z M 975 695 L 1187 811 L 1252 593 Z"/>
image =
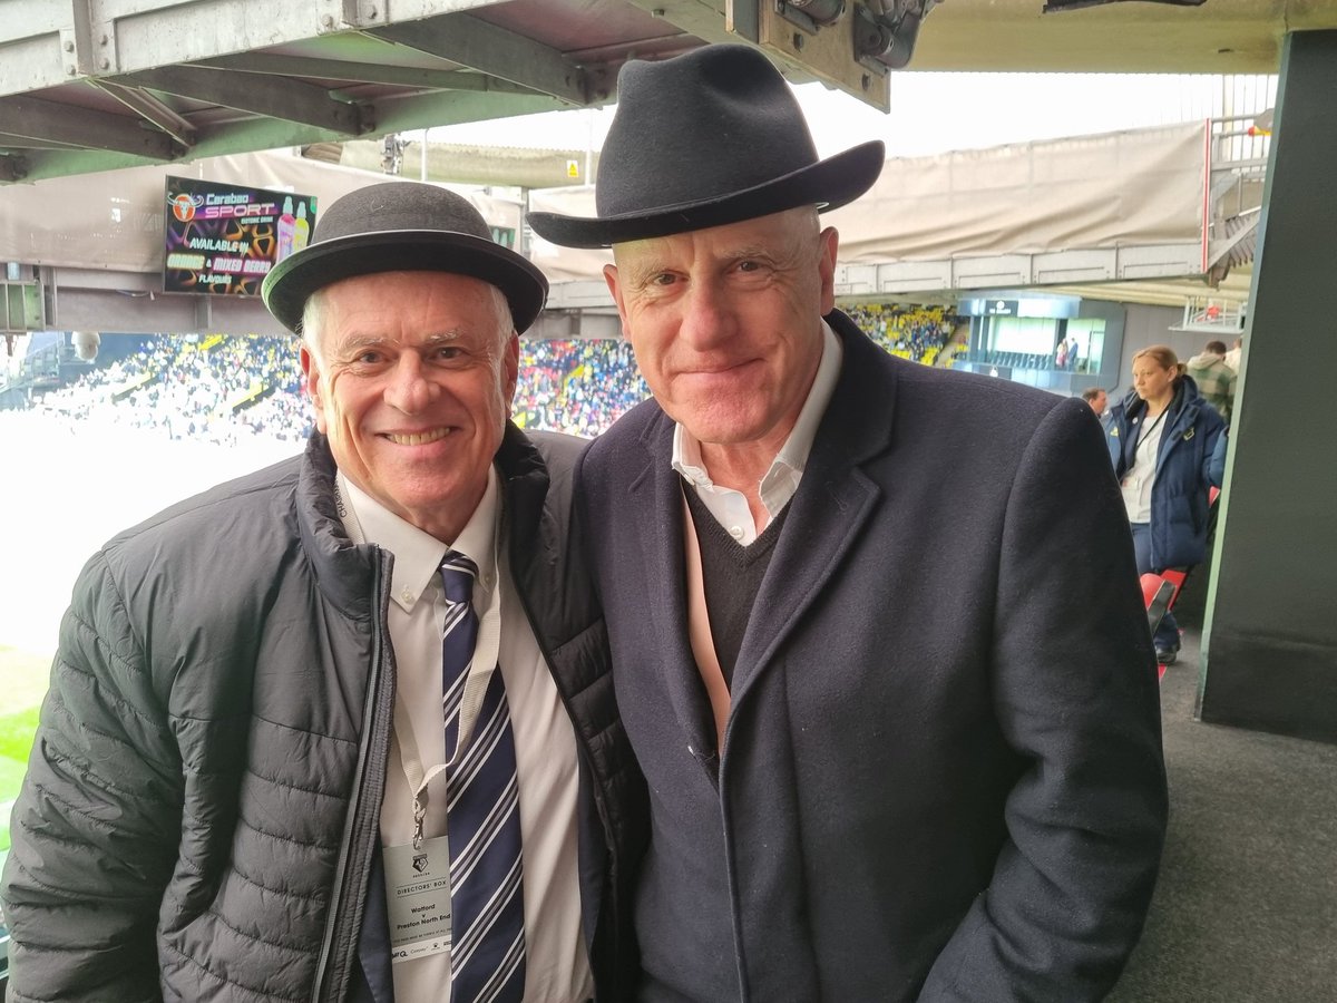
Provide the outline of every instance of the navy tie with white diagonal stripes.
<path id="1" fill-rule="evenodd" d="M 441 562 L 445 629 L 447 822 L 451 847 L 451 1003 L 520 1003 L 524 998 L 524 897 L 520 888 L 520 788 L 511 706 L 495 667 L 468 748 L 456 754 L 460 703 L 479 615 L 479 568 L 448 551 Z"/>

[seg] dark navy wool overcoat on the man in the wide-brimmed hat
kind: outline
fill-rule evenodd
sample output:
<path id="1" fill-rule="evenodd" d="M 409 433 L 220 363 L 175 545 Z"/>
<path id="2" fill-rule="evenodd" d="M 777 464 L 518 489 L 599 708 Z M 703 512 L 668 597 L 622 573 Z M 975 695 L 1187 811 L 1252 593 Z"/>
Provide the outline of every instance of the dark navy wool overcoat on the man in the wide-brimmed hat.
<path id="1" fill-rule="evenodd" d="M 721 753 L 689 647 L 674 423 L 579 469 L 646 773 L 642 1000 L 1098 1000 L 1166 825 L 1152 649 L 1080 400 L 844 365 L 734 667 Z"/>

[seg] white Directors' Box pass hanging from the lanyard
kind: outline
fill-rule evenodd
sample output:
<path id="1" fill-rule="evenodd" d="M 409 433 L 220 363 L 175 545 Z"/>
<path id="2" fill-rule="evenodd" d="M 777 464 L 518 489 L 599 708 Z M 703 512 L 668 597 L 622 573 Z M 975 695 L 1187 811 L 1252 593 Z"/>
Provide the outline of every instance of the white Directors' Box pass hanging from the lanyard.
<path id="1" fill-rule="evenodd" d="M 394 964 L 451 950 L 451 851 L 437 836 L 382 849 Z"/>

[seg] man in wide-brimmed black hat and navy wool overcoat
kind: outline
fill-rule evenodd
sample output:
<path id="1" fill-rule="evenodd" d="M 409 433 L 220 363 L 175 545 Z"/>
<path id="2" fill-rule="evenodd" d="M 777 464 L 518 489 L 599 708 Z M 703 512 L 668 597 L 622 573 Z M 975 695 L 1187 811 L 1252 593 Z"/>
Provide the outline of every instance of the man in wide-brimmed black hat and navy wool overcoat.
<path id="1" fill-rule="evenodd" d="M 650 788 L 638 1000 L 1095 1000 L 1166 824 L 1127 520 L 1079 400 L 834 309 L 880 143 L 755 49 L 628 63 L 595 218 L 654 393 L 579 467 Z"/>

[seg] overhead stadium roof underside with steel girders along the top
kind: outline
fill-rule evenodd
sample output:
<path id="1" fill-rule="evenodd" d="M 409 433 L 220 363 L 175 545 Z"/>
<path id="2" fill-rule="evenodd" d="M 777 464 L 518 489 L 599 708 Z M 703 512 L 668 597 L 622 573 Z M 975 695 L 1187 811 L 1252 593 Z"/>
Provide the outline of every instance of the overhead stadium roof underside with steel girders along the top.
<path id="1" fill-rule="evenodd" d="M 820 79 L 885 108 L 888 74 L 905 66 L 1271 74 L 1286 32 L 1337 28 L 1330 0 L 1048 0 L 1048 8 L 1046 0 L 0 0 L 0 183 L 599 106 L 615 99 L 628 58 L 709 41 L 751 41 L 796 83 Z"/>

